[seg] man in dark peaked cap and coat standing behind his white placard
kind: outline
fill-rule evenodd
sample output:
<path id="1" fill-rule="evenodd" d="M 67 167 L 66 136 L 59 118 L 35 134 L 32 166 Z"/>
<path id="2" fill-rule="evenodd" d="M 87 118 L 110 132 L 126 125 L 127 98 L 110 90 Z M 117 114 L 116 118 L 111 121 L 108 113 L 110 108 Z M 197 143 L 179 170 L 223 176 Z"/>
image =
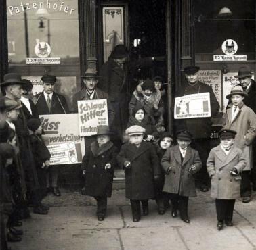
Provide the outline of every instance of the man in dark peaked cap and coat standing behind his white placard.
<path id="1" fill-rule="evenodd" d="M 199 67 L 188 66 L 184 68 L 186 82 L 178 88 L 175 97 L 182 97 L 184 95 L 209 93 L 211 116 L 215 116 L 219 111 L 219 103 L 213 93 L 211 86 L 200 82 Z M 208 191 L 209 176 L 207 174 L 206 162 L 210 151 L 210 136 L 211 136 L 211 118 L 185 118 L 175 119 L 175 129 L 186 129 L 191 132 L 194 138 L 194 148 L 198 151 L 200 159 L 202 160 L 202 168 L 196 176 L 197 182 L 200 185 L 202 192 Z"/>

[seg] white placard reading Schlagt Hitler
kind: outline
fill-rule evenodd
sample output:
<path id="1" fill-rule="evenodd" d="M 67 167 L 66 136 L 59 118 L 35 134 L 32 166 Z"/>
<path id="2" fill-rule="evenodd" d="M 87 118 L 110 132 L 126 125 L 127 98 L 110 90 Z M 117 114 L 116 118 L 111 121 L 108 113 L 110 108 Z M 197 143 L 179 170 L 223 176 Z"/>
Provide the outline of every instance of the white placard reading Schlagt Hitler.
<path id="1" fill-rule="evenodd" d="M 108 105 L 106 99 L 77 101 L 79 113 L 79 133 L 81 136 L 97 134 L 99 125 L 108 125 Z"/>

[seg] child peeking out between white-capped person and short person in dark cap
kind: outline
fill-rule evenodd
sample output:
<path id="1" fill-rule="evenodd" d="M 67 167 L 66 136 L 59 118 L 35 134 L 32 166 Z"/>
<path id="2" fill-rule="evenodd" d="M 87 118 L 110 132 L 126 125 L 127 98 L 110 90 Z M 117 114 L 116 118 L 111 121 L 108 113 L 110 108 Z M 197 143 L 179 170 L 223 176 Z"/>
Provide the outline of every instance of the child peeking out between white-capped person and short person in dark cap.
<path id="1" fill-rule="evenodd" d="M 158 158 L 163 158 L 165 151 L 173 145 L 173 136 L 169 132 L 163 132 L 159 137 L 158 143 L 156 145 L 156 153 Z M 165 171 L 161 168 L 161 176 L 155 184 L 156 192 L 156 204 L 158 206 L 158 214 L 165 214 L 165 208 L 169 207 L 169 199 L 167 195 L 163 192 L 163 185 L 165 184 Z"/>

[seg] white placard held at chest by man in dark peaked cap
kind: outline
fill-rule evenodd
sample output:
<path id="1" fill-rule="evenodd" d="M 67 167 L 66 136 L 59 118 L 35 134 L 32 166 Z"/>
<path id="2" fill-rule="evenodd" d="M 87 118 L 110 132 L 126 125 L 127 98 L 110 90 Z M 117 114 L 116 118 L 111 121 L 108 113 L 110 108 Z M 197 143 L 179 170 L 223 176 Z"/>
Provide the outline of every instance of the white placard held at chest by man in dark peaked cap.
<path id="1" fill-rule="evenodd" d="M 211 117 L 210 93 L 184 95 L 175 98 L 174 118 Z"/>

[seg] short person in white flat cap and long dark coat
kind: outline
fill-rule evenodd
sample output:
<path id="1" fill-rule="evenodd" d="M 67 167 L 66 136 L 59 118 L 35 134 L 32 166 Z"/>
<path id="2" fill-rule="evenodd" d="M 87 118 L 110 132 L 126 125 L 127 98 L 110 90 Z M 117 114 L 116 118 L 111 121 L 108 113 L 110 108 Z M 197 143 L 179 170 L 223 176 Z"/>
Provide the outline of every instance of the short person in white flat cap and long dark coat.
<path id="1" fill-rule="evenodd" d="M 131 201 L 133 222 L 138 222 L 142 211 L 148 215 L 148 199 L 155 196 L 154 179 L 159 178 L 160 166 L 154 145 L 142 141 L 145 128 L 130 126 L 125 130 L 129 142 L 121 147 L 117 157 L 125 169 L 125 197 Z"/>

